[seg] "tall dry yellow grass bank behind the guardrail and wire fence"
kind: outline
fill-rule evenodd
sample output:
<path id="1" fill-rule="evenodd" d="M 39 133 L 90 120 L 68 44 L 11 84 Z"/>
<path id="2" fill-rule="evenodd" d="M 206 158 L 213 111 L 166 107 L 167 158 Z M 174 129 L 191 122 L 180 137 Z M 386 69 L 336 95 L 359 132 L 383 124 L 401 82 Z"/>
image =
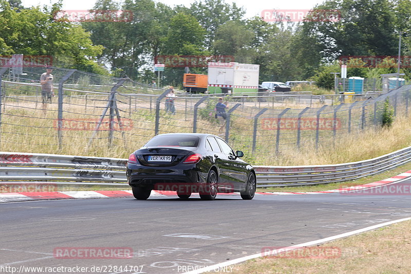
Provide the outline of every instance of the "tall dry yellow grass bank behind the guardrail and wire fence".
<path id="1" fill-rule="evenodd" d="M 91 128 L 94 128 L 106 105 L 104 100 L 106 98 L 100 99 L 103 100 L 89 98 L 85 107 L 84 99 L 71 98 L 71 104 L 64 104 L 63 118 L 91 121 L 94 122 Z M 54 100 L 57 101 L 55 98 Z M 124 98 L 122 100 L 126 101 Z M 166 115 L 161 111 L 159 133 L 192 132 L 194 102 L 195 100 L 189 101 L 187 105 L 182 101 L 176 103 L 177 115 L 174 116 Z M 49 105 L 44 112 L 41 109 L 41 102 L 9 100 L 2 114 L 0 149 L 9 152 L 128 157 L 130 152 L 140 148 L 154 136 L 155 106 L 152 103 L 150 109 L 150 102 L 142 100 L 132 101 L 132 108 L 126 103 L 128 101 L 118 103 L 120 114 L 127 119 L 132 119 L 133 124 L 126 127 L 124 135 L 119 131 L 114 132 L 113 145 L 110 148 L 108 131 L 100 131 L 88 146 L 92 131 L 65 130 L 62 139 L 63 147 L 59 149 L 56 129 L 57 103 Z M 239 107 L 236 111 L 239 116 L 232 118 L 229 142 L 235 150 L 243 150 L 246 154 L 245 160 L 253 165 L 300 166 L 359 161 L 402 149 L 411 143 L 411 130 L 408 128 L 407 117 L 397 117 L 390 129 L 370 128 L 363 132 L 353 131 L 351 135 L 339 133 L 335 139 L 332 135 L 328 139 L 323 137 L 322 142 L 325 144 L 320 144 L 317 150 L 313 141 L 315 131 L 306 134 L 304 145 L 299 151 L 295 148 L 295 139 L 293 140 L 296 131 L 282 133 L 282 136 L 291 138 L 294 144 L 282 144 L 278 154 L 275 153 L 275 131 L 259 131 L 260 135 L 257 138 L 259 147 L 257 146 L 256 152 L 253 153 L 251 145 L 253 119 L 247 118 L 246 114 L 255 115 L 256 109 L 252 110 L 255 113 L 251 113 L 251 107 L 246 107 L 244 111 L 241 109 Z M 221 136 L 224 134 L 224 130 L 220 132 L 220 125 L 217 122 L 204 120 L 201 117 L 198 120 L 197 132 Z M 258 141 L 262 142 L 258 143 Z"/>

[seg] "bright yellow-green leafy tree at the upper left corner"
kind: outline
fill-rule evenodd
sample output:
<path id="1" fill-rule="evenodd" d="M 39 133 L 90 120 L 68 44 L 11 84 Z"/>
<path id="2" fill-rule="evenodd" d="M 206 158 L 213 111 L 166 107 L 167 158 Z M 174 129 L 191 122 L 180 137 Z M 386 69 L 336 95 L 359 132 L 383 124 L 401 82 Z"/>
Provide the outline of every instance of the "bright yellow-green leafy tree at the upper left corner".
<path id="1" fill-rule="evenodd" d="M 0 0 L 0 54 L 25 54 L 30 56 L 51 56 L 53 62 L 70 60 L 65 67 L 101 71 L 94 62 L 102 46 L 92 44 L 81 26 L 67 21 L 54 20 L 54 12 L 61 4 L 51 8 L 39 7 L 17 12 L 8 2 Z"/>

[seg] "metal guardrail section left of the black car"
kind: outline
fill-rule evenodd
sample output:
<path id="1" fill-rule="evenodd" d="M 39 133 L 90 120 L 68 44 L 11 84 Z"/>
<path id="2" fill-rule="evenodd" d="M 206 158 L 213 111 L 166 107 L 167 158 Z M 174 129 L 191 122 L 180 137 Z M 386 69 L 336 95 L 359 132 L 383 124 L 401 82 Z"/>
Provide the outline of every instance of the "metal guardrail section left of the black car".
<path id="1" fill-rule="evenodd" d="M 0 181 L 122 185 L 127 159 L 0 152 Z"/>

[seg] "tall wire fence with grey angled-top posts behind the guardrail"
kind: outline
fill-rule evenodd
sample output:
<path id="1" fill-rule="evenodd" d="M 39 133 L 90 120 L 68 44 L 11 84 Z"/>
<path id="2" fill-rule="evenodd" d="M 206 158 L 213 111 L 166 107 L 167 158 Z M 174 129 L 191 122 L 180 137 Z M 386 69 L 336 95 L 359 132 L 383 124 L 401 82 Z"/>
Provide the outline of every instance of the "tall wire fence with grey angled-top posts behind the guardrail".
<path id="1" fill-rule="evenodd" d="M 220 135 L 250 154 L 275 155 L 377 129 L 386 100 L 394 115 L 408 113 L 411 89 L 348 96 L 225 94 L 227 117 L 217 119 L 220 95 L 184 92 L 169 103 L 164 90 L 62 68 L 53 68 L 54 97 L 44 101 L 44 72 L 27 65 L 16 77 L 10 67 L 0 69 L 2 151 L 125 157 L 157 134 L 197 132 Z"/>

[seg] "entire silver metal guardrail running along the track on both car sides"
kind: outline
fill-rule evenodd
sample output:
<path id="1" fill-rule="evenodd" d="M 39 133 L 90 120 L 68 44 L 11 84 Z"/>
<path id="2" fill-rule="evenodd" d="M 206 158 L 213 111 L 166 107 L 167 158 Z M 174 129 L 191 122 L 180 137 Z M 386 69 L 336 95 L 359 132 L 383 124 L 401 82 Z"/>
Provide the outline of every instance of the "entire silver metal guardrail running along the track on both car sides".
<path id="1" fill-rule="evenodd" d="M 307 186 L 374 175 L 411 161 L 411 147 L 338 165 L 254 166 L 258 187 Z M 64 185 L 123 185 L 127 159 L 0 152 L 0 181 Z M 80 183 L 82 182 L 82 183 Z"/>

